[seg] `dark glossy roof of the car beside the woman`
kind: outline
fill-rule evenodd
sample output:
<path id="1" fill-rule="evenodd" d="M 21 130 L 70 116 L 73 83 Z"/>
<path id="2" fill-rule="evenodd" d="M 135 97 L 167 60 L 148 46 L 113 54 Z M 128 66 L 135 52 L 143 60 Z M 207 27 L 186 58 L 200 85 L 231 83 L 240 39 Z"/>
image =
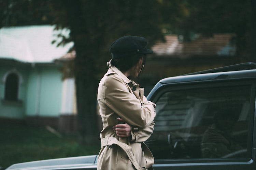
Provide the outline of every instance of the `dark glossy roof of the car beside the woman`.
<path id="1" fill-rule="evenodd" d="M 250 78 L 256 77 L 255 63 L 242 63 L 232 66 L 220 67 L 200 72 L 185 74 L 176 77 L 169 77 L 160 80 L 161 84 L 179 83 L 179 82 L 193 82 L 193 81 L 207 81 L 220 79 L 236 79 L 236 78 Z"/>

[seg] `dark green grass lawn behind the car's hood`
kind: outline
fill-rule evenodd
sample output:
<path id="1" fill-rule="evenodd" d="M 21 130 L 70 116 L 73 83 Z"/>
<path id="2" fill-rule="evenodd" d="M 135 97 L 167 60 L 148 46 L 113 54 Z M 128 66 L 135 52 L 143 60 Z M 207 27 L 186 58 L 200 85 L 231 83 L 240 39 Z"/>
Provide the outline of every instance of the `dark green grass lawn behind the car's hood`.
<path id="1" fill-rule="evenodd" d="M 99 150 L 99 145 L 78 144 L 74 134 L 62 134 L 62 138 L 59 138 L 46 128 L 13 123 L 0 124 L 2 168 L 34 160 L 95 155 Z"/>

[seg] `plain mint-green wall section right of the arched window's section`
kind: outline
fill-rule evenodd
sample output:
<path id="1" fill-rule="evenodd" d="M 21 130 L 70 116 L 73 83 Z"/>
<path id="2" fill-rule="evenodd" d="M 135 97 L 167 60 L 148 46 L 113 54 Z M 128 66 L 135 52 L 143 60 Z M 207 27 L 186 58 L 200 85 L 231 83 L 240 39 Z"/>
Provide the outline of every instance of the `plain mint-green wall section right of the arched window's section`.
<path id="1" fill-rule="evenodd" d="M 58 117 L 61 108 L 61 72 L 58 67 L 35 66 L 29 74 L 26 115 Z"/>

